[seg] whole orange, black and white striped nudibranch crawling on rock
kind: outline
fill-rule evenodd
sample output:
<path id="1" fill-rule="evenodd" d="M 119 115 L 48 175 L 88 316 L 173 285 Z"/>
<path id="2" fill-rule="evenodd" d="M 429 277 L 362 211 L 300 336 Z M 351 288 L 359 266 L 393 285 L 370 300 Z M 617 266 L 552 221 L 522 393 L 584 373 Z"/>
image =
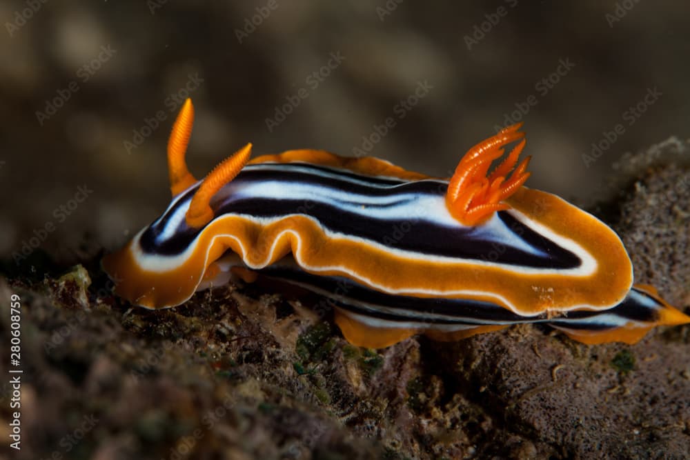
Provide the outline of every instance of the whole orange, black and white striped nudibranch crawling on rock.
<path id="1" fill-rule="evenodd" d="M 449 180 L 322 150 L 250 161 L 247 144 L 199 181 L 185 161 L 193 117 L 188 99 L 168 142 L 168 209 L 103 258 L 115 292 L 139 306 L 261 275 L 324 295 L 344 337 L 371 348 L 517 323 L 634 343 L 690 322 L 651 286 L 633 286 L 611 228 L 523 185 L 519 124 L 471 148 Z"/>

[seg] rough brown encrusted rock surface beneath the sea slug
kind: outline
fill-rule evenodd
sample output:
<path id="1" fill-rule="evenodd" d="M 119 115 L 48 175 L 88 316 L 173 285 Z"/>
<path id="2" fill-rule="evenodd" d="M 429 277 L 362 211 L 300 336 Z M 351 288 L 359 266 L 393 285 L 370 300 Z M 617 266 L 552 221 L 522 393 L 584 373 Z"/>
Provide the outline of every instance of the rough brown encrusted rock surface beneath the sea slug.
<path id="1" fill-rule="evenodd" d="M 640 164 L 596 213 L 626 244 L 638 282 L 690 308 L 690 169 Z M 687 152 L 685 143 L 675 148 Z M 680 155 L 682 157 L 682 155 Z M 678 163 L 681 164 L 681 163 Z M 86 253 L 7 264 L 21 296 L 20 459 L 684 458 L 690 328 L 634 346 L 585 346 L 519 326 L 386 350 L 346 343 L 331 318 L 262 286 L 226 286 L 148 311 L 110 294 Z M 10 268 L 12 268 L 10 270 Z M 45 276 L 44 276 L 45 273 Z M 10 360 L 1 303 L 0 373 Z M 11 388 L 0 388 L 8 439 Z"/>

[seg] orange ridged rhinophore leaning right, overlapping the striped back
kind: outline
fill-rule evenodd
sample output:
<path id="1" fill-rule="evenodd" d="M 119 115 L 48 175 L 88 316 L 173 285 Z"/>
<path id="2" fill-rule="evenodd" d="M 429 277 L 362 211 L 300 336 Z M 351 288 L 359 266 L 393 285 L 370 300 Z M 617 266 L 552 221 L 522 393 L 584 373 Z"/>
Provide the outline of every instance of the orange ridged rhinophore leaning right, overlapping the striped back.
<path id="1" fill-rule="evenodd" d="M 251 154 L 252 144 L 248 143 L 243 148 L 237 150 L 233 156 L 221 161 L 218 166 L 208 173 L 208 176 L 201 182 L 199 190 L 194 194 L 189 209 L 185 214 L 188 226 L 199 228 L 213 219 L 213 210 L 210 208 L 211 198 L 226 183 L 235 179 L 247 161 L 249 161 Z"/>

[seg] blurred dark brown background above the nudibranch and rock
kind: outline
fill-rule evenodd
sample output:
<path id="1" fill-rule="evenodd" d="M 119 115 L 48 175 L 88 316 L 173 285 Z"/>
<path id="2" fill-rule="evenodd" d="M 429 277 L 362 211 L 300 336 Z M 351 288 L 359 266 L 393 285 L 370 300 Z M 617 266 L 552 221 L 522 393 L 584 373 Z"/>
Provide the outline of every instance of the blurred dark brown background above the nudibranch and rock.
<path id="1" fill-rule="evenodd" d="M 586 205 L 622 154 L 690 135 L 686 2 L 235 3 L 0 3 L 0 257 L 110 249 L 155 219 L 187 90 L 197 177 L 248 141 L 444 176 L 513 120 L 528 185 Z"/>

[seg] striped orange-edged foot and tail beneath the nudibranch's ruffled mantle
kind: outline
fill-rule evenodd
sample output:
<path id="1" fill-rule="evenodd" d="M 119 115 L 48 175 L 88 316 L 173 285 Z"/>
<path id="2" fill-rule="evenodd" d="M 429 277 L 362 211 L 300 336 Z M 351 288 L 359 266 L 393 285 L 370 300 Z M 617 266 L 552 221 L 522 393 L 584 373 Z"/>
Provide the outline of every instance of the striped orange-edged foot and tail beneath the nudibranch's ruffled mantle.
<path id="1" fill-rule="evenodd" d="M 558 317 L 546 313 L 523 317 L 488 302 L 420 299 L 377 292 L 341 277 L 306 273 L 290 257 L 257 274 L 329 299 L 343 336 L 354 345 L 368 348 L 390 346 L 415 334 L 438 341 L 457 341 L 524 323 L 544 324 L 587 344 L 635 343 L 656 326 L 690 323 L 690 317 L 646 285 L 635 285 L 621 303 L 609 310 L 585 306 Z"/>

